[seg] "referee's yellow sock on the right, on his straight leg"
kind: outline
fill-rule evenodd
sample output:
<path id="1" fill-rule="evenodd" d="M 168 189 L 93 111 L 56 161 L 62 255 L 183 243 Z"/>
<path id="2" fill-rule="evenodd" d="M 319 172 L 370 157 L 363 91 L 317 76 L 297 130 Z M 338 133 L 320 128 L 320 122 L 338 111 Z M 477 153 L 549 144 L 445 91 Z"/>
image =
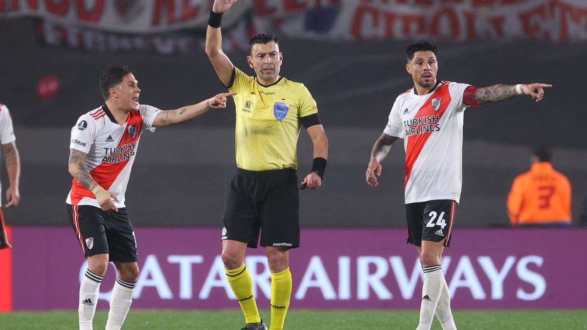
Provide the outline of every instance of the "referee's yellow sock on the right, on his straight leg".
<path id="1" fill-rule="evenodd" d="M 284 328 L 285 314 L 288 312 L 289 298 L 292 295 L 292 273 L 289 268 L 271 273 L 271 326 L 269 330 Z"/>

